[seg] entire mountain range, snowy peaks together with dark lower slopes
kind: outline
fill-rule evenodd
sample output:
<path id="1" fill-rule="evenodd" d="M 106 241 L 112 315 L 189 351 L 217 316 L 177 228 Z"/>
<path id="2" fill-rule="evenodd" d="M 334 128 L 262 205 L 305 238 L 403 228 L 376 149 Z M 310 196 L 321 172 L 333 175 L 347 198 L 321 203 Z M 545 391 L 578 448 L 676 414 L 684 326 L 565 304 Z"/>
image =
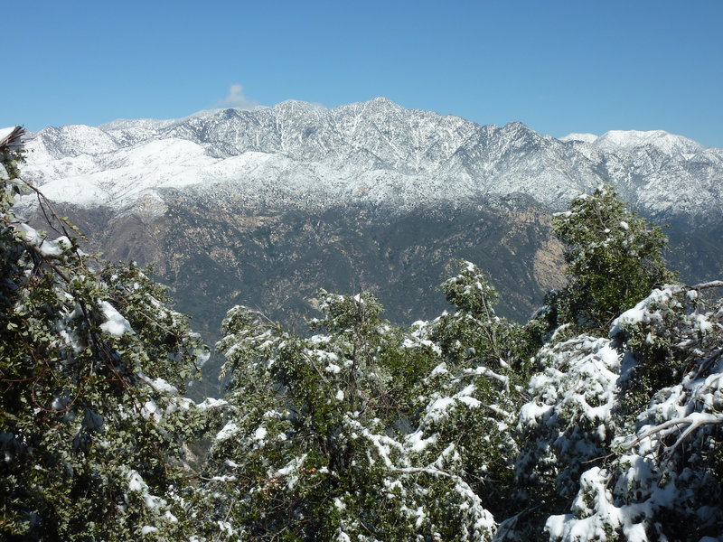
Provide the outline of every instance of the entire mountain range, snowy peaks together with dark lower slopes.
<path id="1" fill-rule="evenodd" d="M 460 257 L 524 319 L 564 280 L 551 212 L 601 182 L 671 223 L 683 278 L 723 276 L 723 152 L 661 131 L 558 140 L 376 98 L 47 128 L 26 145 L 25 175 L 59 213 L 108 259 L 154 263 L 211 334 L 233 304 L 301 322 L 319 287 L 371 290 L 395 322 L 433 317 Z"/>

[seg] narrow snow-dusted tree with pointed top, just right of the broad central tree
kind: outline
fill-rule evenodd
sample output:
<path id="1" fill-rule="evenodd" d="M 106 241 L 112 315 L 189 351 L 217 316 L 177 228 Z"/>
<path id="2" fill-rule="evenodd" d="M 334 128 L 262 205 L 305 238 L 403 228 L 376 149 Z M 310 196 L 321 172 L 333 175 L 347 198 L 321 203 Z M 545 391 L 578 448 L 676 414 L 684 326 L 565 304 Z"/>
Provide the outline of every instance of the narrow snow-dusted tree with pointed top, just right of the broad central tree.
<path id="1" fill-rule="evenodd" d="M 455 313 L 417 322 L 406 342 L 437 353 L 416 393 L 423 415 L 415 438 L 434 444 L 427 444 L 427 454 L 454 449 L 465 481 L 503 518 L 512 507 L 513 428 L 536 341 L 520 324 L 496 315 L 497 294 L 473 263 L 462 261 L 460 273 L 442 288 Z"/>

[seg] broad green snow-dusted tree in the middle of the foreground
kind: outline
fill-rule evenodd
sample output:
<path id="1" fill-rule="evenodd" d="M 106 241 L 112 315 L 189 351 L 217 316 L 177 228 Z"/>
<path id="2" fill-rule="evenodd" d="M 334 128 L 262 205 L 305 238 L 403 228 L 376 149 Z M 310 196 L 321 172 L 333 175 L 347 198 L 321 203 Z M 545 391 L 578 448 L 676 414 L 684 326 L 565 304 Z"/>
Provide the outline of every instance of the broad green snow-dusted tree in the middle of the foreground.
<path id="1" fill-rule="evenodd" d="M 465 481 L 460 454 L 454 446 L 423 453 L 433 442 L 409 426 L 413 413 L 395 393 L 394 375 L 414 349 L 380 320 L 371 295 L 321 299 L 324 318 L 314 325 L 325 333 L 309 339 L 243 307 L 224 323 L 228 420 L 205 489 L 224 535 L 490 539 L 493 518 Z"/>

